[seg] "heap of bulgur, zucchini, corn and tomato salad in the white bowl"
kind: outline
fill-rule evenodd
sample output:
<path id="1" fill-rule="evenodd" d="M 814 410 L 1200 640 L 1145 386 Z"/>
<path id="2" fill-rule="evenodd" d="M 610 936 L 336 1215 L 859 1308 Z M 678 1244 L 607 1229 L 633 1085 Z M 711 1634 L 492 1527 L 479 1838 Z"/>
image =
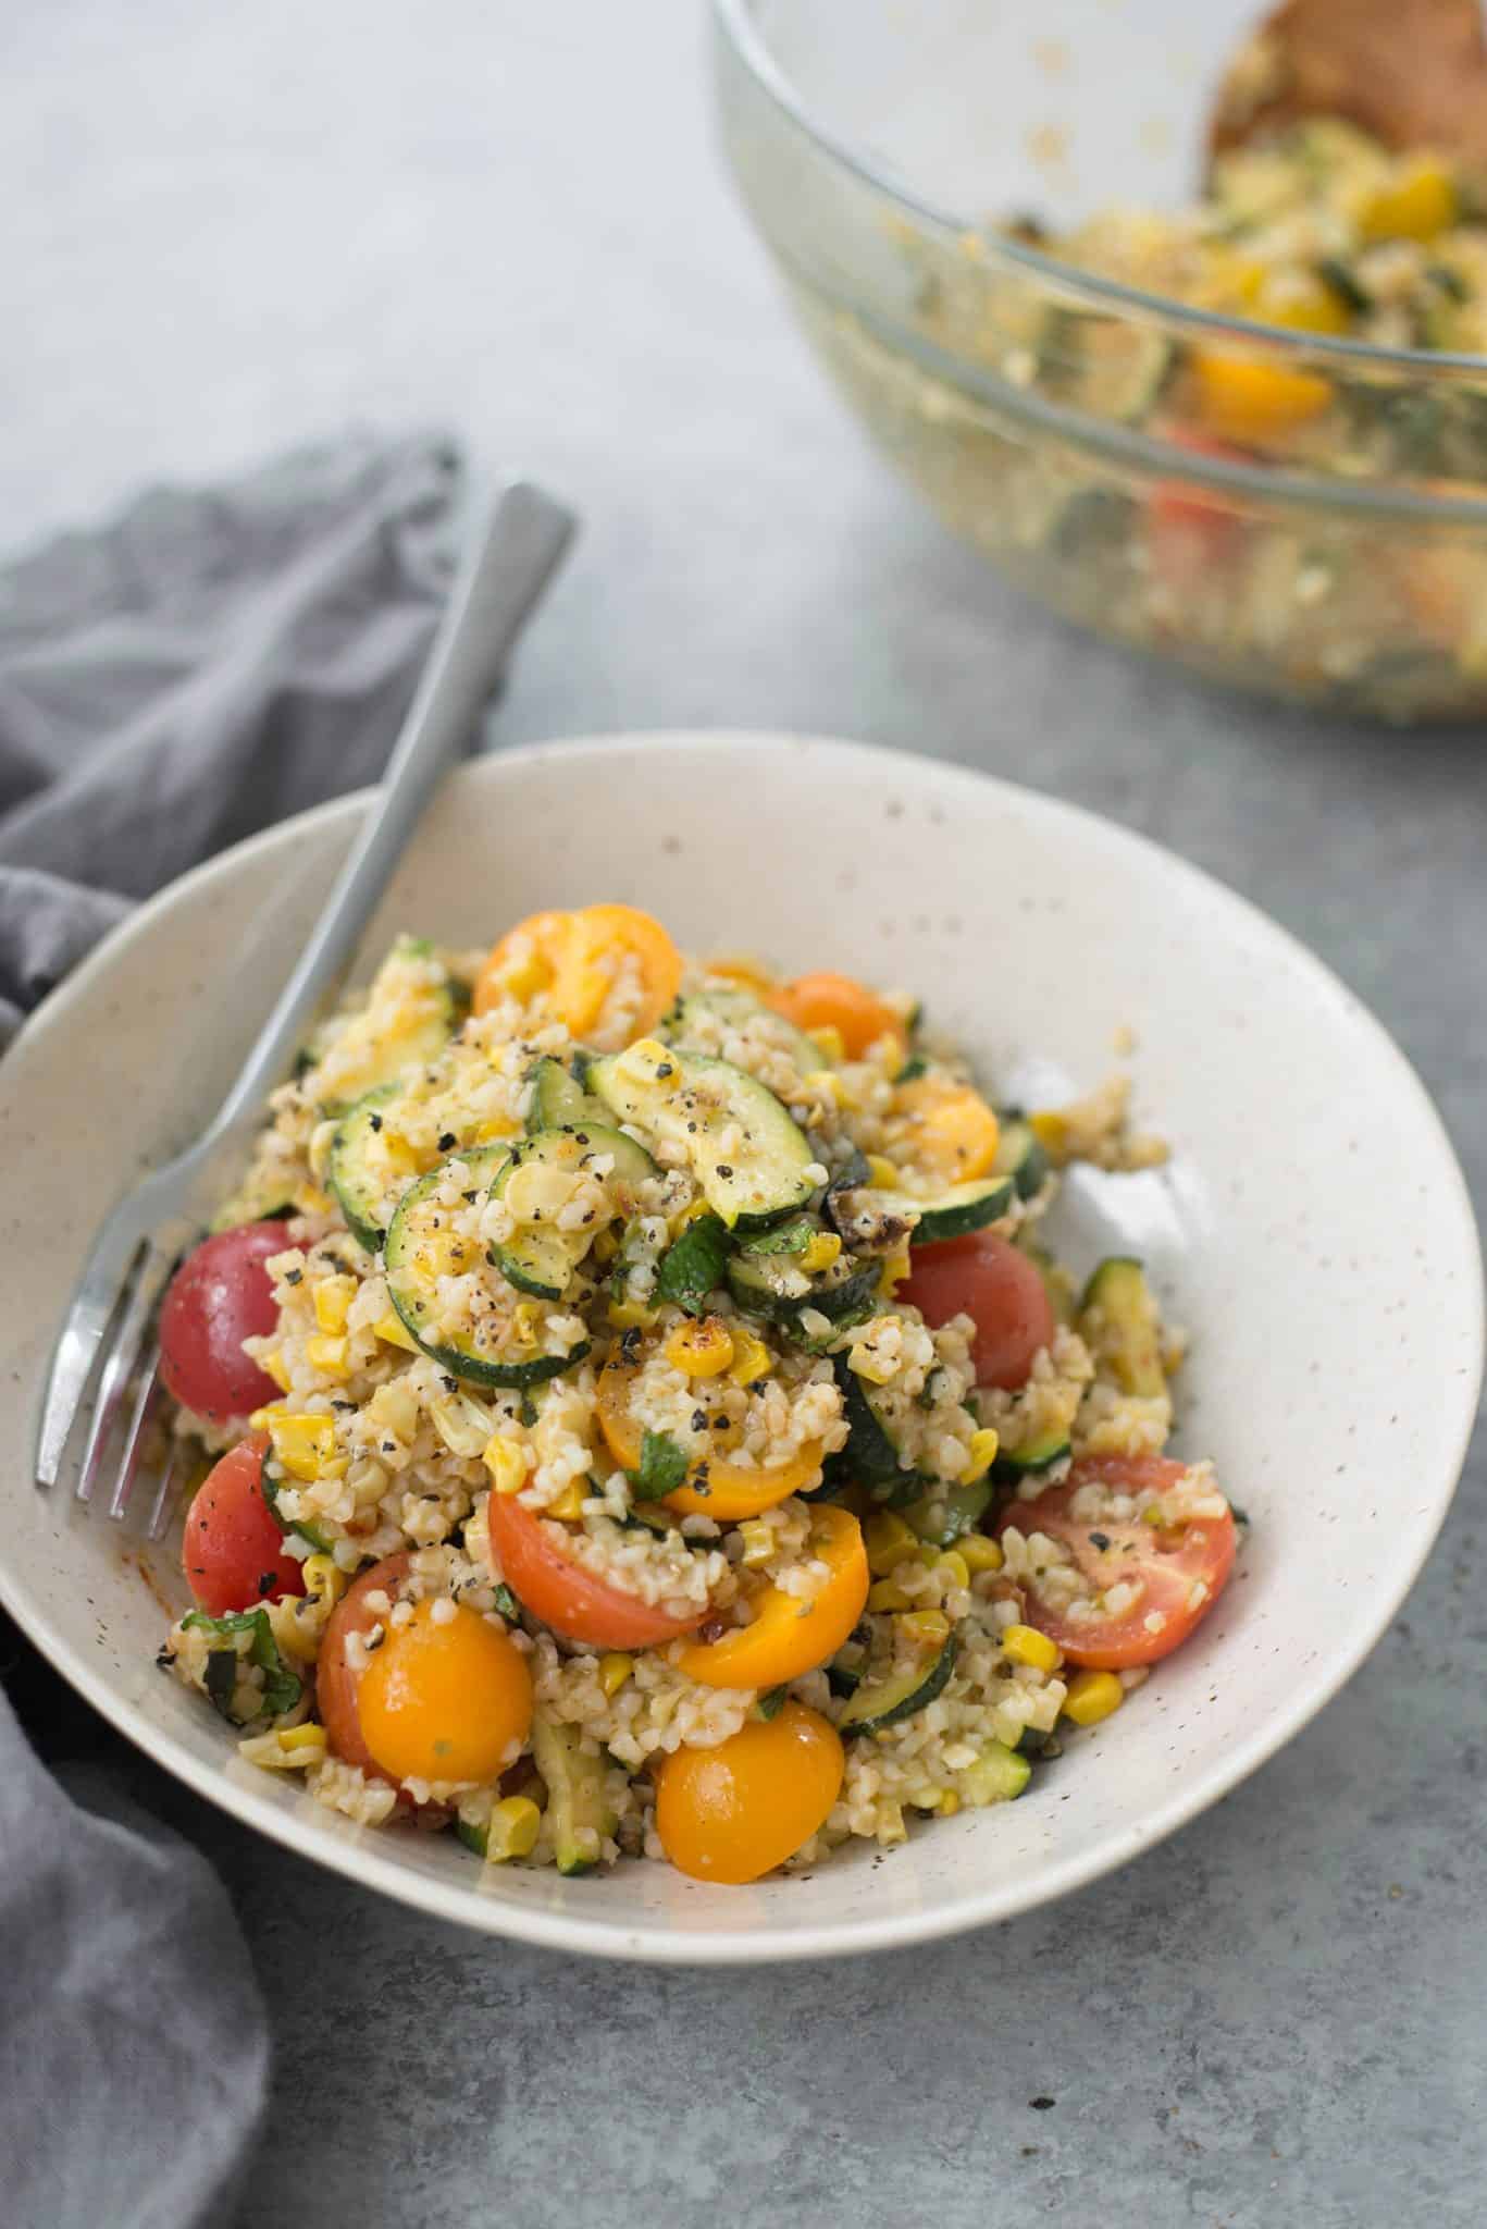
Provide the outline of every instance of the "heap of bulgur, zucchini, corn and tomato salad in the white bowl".
<path id="1" fill-rule="evenodd" d="M 629 905 L 401 938 L 165 1300 L 161 1665 L 484 1863 L 751 1881 L 1019 1797 L 1233 1565 L 1141 1266 L 1041 1239 L 1162 1155 L 1124 1077 L 999 1108 L 910 996 Z"/>

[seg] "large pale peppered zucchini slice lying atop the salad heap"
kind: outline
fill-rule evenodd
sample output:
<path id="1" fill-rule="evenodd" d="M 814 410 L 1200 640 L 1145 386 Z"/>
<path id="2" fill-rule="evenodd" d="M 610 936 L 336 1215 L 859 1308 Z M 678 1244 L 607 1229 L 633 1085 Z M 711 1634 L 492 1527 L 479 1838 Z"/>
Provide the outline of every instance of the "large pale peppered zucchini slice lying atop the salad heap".
<path id="1" fill-rule="evenodd" d="M 682 1148 L 729 1230 L 794 1215 L 816 1190 L 805 1130 L 729 1061 L 642 1036 L 626 1052 L 591 1061 L 584 1081 L 620 1121 Z"/>

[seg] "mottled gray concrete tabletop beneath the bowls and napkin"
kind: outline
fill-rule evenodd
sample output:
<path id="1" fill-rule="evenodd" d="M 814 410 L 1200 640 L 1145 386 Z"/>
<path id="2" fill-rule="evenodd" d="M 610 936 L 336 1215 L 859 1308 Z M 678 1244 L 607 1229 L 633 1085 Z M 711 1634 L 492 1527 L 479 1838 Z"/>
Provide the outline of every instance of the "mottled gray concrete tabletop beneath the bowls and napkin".
<path id="1" fill-rule="evenodd" d="M 1141 827 L 1376 1005 L 1480 1199 L 1483 738 L 1215 698 L 999 588 L 787 328 L 700 29 L 680 0 L 11 0 L 0 535 L 352 419 L 446 421 L 589 519 L 508 736 L 834 729 Z M 239 1901 L 279 2040 L 247 2220 L 1471 2222 L 1485 1500 L 1478 1451 L 1369 1667 L 1215 1812 L 1063 1906 L 876 1962 L 470 1941 L 243 1839 L 60 1694 L 51 1745 L 127 1774 Z"/>

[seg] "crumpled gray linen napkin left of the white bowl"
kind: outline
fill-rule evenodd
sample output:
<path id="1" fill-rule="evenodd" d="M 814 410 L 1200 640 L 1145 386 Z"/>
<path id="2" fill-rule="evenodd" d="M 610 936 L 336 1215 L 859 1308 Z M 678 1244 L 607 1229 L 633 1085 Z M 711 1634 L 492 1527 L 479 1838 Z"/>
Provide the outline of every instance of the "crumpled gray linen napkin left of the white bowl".
<path id="1" fill-rule="evenodd" d="M 132 898 L 377 778 L 457 495 L 448 444 L 350 439 L 0 568 L 0 1043 Z M 247 1953 L 194 1850 L 87 1794 L 0 1698 L 0 2218 L 221 2220 L 265 2102 Z"/>

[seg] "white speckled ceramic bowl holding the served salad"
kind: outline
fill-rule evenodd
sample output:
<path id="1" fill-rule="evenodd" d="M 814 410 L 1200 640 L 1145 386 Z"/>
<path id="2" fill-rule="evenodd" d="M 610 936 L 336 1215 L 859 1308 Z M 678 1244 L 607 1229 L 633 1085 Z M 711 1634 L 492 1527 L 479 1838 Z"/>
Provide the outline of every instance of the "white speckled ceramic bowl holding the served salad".
<path id="1" fill-rule="evenodd" d="M 29 1482 L 42 1366 L 91 1230 L 210 1112 L 359 807 L 292 820 L 143 907 L 0 1068 L 0 1596 L 192 1788 L 308 1857 L 495 1935 L 611 1957 L 818 1957 L 1063 1895 L 1264 1763 L 1373 1647 L 1445 1516 L 1476 1413 L 1471 1208 L 1418 1079 L 1358 1001 L 1217 883 L 1088 814 L 954 767 L 783 736 L 508 751 L 446 789 L 368 950 L 482 943 L 537 905 L 631 898 L 693 947 L 754 945 L 921 992 L 1010 1088 L 1088 1086 L 1137 1032 L 1162 1172 L 1077 1179 L 1079 1264 L 1146 1255 L 1193 1331 L 1182 1447 L 1253 1534 L 1197 1638 L 1001 1810 L 854 1846 L 807 1879 L 702 1888 L 626 1863 L 482 1872 L 256 1772 L 154 1670 L 172 1558 Z"/>

